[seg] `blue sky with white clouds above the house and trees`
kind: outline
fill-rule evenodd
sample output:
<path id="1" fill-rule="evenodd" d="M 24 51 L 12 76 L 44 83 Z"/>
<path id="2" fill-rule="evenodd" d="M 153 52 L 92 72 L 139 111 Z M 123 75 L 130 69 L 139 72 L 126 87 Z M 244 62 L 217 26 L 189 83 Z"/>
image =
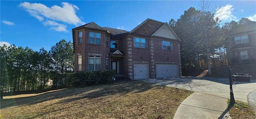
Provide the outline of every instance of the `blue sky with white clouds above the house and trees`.
<path id="1" fill-rule="evenodd" d="M 72 28 L 89 22 L 131 31 L 147 18 L 177 20 L 200 1 L 4 1 L 0 0 L 0 42 L 39 51 L 62 39 L 72 41 Z M 242 17 L 256 21 L 256 1 L 211 1 L 224 22 Z"/>

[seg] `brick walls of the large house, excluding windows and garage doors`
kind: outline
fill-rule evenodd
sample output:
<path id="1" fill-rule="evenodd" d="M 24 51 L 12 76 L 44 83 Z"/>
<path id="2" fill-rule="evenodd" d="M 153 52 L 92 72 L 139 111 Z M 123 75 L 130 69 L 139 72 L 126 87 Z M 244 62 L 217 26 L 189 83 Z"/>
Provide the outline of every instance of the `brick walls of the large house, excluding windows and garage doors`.
<path id="1" fill-rule="evenodd" d="M 176 64 L 178 65 L 178 76 L 181 76 L 181 59 L 180 59 L 180 40 L 170 39 L 159 36 L 152 36 L 158 29 L 167 23 L 158 22 L 147 19 L 142 24 L 137 26 L 131 32 L 127 32 L 125 36 L 120 39 L 113 39 L 118 41 L 118 50 L 124 55 L 114 55 L 110 50 L 117 50 L 106 46 L 106 35 L 110 37 L 113 35 L 107 30 L 97 30 L 92 28 L 78 27 L 73 31 L 74 53 L 75 53 L 75 72 L 78 71 L 78 55 L 82 55 L 82 71 L 88 71 L 88 57 L 101 57 L 101 70 L 106 69 L 106 57 L 108 57 L 109 69 L 112 69 L 112 61 L 118 62 L 119 74 L 124 75 L 126 79 L 134 79 L 134 63 L 144 63 L 148 65 L 148 77 L 156 78 L 156 63 L 161 64 Z M 86 27 L 86 25 L 84 25 Z M 100 26 L 98 26 L 100 27 Z M 97 27 L 97 28 L 98 28 Z M 78 32 L 82 31 L 82 43 L 78 44 Z M 89 32 L 101 33 L 101 44 L 89 44 Z M 171 30 L 170 30 L 171 31 Z M 134 47 L 134 38 L 146 39 L 146 48 Z M 176 36 L 177 37 L 177 36 Z M 177 37 L 178 38 L 178 37 Z M 172 43 L 173 50 L 162 50 L 162 41 Z"/>

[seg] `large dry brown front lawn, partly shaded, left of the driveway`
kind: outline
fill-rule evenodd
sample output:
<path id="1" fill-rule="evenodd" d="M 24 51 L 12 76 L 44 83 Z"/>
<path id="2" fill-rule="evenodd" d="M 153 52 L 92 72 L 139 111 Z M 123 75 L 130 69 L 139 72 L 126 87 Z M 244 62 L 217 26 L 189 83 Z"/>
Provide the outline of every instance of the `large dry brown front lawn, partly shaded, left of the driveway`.
<path id="1" fill-rule="evenodd" d="M 33 97 L 2 99 L 0 117 L 166 119 L 173 118 L 180 103 L 192 93 L 142 81 L 121 81 Z"/>

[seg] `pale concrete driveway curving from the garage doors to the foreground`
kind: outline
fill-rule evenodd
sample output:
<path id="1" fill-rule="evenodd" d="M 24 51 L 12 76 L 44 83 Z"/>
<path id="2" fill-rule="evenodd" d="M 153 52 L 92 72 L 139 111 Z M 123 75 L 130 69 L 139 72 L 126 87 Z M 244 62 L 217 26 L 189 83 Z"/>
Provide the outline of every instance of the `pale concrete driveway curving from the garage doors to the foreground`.
<path id="1" fill-rule="evenodd" d="M 227 101 L 230 98 L 228 78 L 177 77 L 138 80 L 194 91 L 180 104 L 174 119 L 231 118 L 227 113 Z M 254 93 L 251 94 L 251 92 L 254 90 L 256 90 L 256 80 L 251 80 L 251 83 L 238 83 L 233 87 L 234 98 L 248 103 L 248 99 L 250 99 L 248 94 L 250 93 L 253 97 Z"/>

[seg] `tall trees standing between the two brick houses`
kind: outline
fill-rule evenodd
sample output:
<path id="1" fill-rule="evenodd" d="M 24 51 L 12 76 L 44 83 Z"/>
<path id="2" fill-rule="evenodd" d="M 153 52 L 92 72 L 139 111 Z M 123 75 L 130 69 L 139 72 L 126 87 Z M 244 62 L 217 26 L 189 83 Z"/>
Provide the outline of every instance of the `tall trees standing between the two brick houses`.
<path id="1" fill-rule="evenodd" d="M 228 65 L 226 55 L 227 36 L 247 22 L 248 18 L 223 23 L 216 15 L 221 14 L 212 8 L 210 2 L 201 1 L 200 10 L 190 7 L 176 21 L 169 24 L 182 40 L 182 71 L 192 71 L 200 67 Z"/>

